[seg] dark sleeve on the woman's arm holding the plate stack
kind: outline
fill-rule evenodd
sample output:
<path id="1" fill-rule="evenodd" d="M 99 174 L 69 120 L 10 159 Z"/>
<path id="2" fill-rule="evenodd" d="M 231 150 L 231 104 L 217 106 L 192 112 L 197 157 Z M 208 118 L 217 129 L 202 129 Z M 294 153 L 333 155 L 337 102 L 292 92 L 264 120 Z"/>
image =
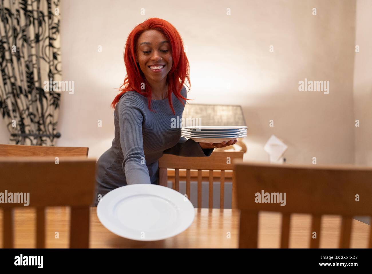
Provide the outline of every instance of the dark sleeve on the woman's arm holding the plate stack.
<path id="1" fill-rule="evenodd" d="M 202 149 L 198 142 L 181 137 L 180 141 L 174 147 L 164 150 L 163 153 L 185 157 L 206 157 L 211 155 L 213 150 L 214 148 Z"/>

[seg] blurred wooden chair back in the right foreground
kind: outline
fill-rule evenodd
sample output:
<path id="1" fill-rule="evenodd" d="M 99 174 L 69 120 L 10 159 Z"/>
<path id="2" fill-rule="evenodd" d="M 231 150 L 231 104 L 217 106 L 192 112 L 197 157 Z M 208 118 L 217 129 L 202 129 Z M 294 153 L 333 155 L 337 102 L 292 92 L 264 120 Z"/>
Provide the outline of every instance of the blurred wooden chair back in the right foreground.
<path id="1" fill-rule="evenodd" d="M 319 248 L 322 215 L 342 216 L 339 248 L 350 246 L 353 216 L 372 216 L 372 167 L 233 164 L 240 248 L 257 248 L 259 211 L 282 212 L 281 248 L 288 248 L 291 213 L 312 215 L 311 232 L 317 237 L 310 248 Z"/>

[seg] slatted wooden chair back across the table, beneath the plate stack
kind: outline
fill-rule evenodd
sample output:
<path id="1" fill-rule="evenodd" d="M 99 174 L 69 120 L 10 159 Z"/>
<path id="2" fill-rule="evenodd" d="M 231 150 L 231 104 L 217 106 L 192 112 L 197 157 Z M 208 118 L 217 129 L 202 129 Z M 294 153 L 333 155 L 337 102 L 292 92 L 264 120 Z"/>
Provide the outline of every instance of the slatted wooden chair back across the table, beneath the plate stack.
<path id="1" fill-rule="evenodd" d="M 221 170 L 219 204 L 224 208 L 225 170 L 232 170 L 232 208 L 236 208 L 235 168 L 232 161 L 243 159 L 243 151 L 212 152 L 209 157 L 182 157 L 164 154 L 159 159 L 159 184 L 167 186 L 167 169 L 175 169 L 173 189 L 179 191 L 179 170 L 186 169 L 186 195 L 190 199 L 190 170 L 198 170 L 198 208 L 202 207 L 202 170 L 209 170 L 208 207 L 213 208 L 213 171 Z"/>

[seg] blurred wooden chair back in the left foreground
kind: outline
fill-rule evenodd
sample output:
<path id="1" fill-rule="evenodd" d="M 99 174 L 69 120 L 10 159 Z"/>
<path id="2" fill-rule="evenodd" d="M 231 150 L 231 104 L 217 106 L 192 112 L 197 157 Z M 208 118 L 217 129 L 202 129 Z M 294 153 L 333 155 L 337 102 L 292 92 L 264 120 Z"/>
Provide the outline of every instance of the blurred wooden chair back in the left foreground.
<path id="1" fill-rule="evenodd" d="M 54 156 L 54 155 L 53 155 Z M 71 207 L 70 248 L 89 248 L 90 205 L 94 196 L 95 159 L 64 157 L 0 157 L 0 190 L 28 193 L 36 208 L 36 248 L 45 248 L 45 207 Z M 13 248 L 13 208 L 3 209 L 3 248 Z"/>

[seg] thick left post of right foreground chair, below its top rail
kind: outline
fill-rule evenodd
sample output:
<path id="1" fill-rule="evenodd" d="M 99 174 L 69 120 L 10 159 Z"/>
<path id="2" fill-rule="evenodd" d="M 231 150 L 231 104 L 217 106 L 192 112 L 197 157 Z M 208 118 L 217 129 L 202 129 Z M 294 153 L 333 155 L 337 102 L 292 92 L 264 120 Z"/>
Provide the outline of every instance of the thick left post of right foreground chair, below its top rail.
<path id="1" fill-rule="evenodd" d="M 239 248 L 257 248 L 258 212 L 241 210 L 239 224 Z"/>

